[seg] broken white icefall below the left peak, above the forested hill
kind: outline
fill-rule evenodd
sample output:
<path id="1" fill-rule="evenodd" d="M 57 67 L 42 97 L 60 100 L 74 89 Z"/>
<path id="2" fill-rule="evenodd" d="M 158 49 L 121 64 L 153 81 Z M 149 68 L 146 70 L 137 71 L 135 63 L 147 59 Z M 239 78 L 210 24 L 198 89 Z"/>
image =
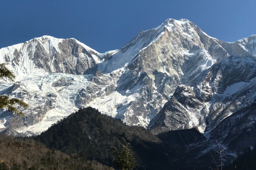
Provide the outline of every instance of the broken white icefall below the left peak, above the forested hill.
<path id="1" fill-rule="evenodd" d="M 76 95 L 83 86 L 90 84 L 91 78 L 92 75 L 52 73 L 15 82 L 2 93 L 21 98 L 29 104 L 29 108 L 22 109 L 25 114 L 23 120 L 20 116 L 12 115 L 9 126 L 25 135 L 47 130 L 53 123 L 77 110 Z M 11 116 L 8 112 L 5 114 Z"/>

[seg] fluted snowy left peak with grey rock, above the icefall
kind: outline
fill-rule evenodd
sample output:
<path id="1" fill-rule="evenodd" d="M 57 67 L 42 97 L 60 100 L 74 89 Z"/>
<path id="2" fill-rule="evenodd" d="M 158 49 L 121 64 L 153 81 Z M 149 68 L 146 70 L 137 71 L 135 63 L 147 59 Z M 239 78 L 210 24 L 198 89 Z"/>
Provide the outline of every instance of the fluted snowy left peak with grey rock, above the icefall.
<path id="1" fill-rule="evenodd" d="M 99 62 L 99 53 L 75 39 L 34 38 L 0 49 L 0 63 L 8 63 L 16 81 L 49 73 L 84 74 Z M 97 69 L 96 69 L 97 70 Z"/>

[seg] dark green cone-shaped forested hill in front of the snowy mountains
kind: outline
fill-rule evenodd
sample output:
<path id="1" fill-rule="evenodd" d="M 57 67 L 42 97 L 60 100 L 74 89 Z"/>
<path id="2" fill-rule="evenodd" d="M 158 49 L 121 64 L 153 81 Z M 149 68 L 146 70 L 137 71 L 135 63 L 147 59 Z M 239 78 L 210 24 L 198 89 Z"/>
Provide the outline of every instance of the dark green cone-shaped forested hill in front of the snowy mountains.
<path id="1" fill-rule="evenodd" d="M 79 109 L 52 125 L 35 140 L 68 155 L 83 155 L 86 159 L 115 167 L 110 147 L 118 148 L 121 137 L 131 143 L 139 169 L 169 169 L 176 159 L 177 153 L 148 129 L 127 126 L 121 120 L 102 115 L 92 107 Z"/>

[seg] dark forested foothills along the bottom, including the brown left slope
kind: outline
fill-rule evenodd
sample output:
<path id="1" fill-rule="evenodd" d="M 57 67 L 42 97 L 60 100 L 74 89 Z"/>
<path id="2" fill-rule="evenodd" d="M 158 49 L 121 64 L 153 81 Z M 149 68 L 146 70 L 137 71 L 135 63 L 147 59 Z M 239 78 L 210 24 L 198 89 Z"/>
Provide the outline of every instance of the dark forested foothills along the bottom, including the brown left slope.
<path id="1" fill-rule="evenodd" d="M 186 148 L 205 140 L 196 129 L 153 135 L 148 129 L 127 126 L 121 120 L 102 115 L 92 107 L 80 108 L 36 137 L 0 135 L 0 170 L 118 170 L 113 146 L 130 143 L 138 170 L 216 168 L 211 154 L 193 159 L 198 153 Z M 219 153 L 213 155 L 218 161 Z M 223 157 L 225 159 L 225 155 Z M 256 151 L 248 149 L 222 169 L 254 169 Z"/>

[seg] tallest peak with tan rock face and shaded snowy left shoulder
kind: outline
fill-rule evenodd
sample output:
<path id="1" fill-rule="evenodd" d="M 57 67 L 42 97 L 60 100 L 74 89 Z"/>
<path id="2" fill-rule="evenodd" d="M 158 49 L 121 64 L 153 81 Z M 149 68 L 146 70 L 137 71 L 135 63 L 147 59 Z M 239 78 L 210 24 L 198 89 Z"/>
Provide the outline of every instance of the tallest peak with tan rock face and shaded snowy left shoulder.
<path id="1" fill-rule="evenodd" d="M 142 31 L 119 50 L 102 56 L 98 64 L 104 74 L 123 69 L 116 92 L 136 96 L 136 100 L 108 105 L 107 110 L 99 102 L 92 104 L 103 113 L 120 108 L 117 115 L 124 122 L 147 127 L 180 83 L 194 79 L 226 56 L 228 52 L 192 22 L 167 19 L 157 28 Z"/>

